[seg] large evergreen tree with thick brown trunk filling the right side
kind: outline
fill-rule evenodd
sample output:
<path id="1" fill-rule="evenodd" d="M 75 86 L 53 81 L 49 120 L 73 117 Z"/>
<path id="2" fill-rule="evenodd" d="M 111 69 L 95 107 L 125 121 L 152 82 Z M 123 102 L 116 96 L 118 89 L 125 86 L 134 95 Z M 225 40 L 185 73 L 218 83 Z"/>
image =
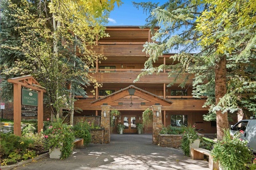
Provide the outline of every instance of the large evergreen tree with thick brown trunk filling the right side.
<path id="1" fill-rule="evenodd" d="M 210 114 L 205 118 L 216 118 L 218 139 L 222 139 L 223 130 L 229 128 L 228 112 L 240 108 L 256 111 L 253 1 L 170 0 L 161 6 L 151 2 L 134 5 L 151 14 L 145 26 L 160 25 L 152 37 L 153 42 L 144 45 L 150 58 L 137 80 L 164 68 L 175 70 L 168 76 L 176 76 L 176 79 L 184 78 L 186 73 L 195 74 L 193 95 L 208 97 L 205 106 L 209 106 Z M 247 20 L 245 24 L 243 21 Z M 159 56 L 171 50 L 178 50 L 171 57 L 179 61 L 178 64 L 153 66 Z M 181 87 L 186 80 L 187 77 Z"/>

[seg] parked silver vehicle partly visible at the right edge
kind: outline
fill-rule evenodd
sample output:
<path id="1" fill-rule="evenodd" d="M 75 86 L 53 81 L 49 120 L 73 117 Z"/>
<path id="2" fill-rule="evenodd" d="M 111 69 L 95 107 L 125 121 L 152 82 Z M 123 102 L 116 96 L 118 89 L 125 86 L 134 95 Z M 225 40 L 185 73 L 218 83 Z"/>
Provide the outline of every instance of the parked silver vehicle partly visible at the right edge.
<path id="1" fill-rule="evenodd" d="M 256 116 L 250 117 L 247 120 L 241 120 L 230 128 L 230 134 L 234 135 L 238 131 L 243 130 L 241 139 L 248 141 L 247 146 L 256 153 Z"/>

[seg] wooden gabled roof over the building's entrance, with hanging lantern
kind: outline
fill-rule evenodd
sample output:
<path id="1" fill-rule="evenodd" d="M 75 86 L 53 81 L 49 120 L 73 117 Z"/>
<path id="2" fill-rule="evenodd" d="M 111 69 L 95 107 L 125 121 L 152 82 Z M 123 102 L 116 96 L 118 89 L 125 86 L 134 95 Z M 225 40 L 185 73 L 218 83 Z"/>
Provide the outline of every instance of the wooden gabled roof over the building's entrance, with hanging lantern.
<path id="1" fill-rule="evenodd" d="M 135 90 L 134 95 L 129 94 L 129 90 L 133 88 Z M 131 96 L 127 99 L 127 96 Z M 127 103 L 123 103 L 121 101 L 131 101 L 131 104 L 133 104 L 133 98 L 136 97 L 137 99 L 134 100 L 136 104 L 141 105 L 168 105 L 170 106 L 172 104 L 172 101 L 164 99 L 163 97 L 151 94 L 150 92 L 146 90 L 142 90 L 141 88 L 135 87 L 133 85 L 128 86 L 126 88 L 123 88 L 117 92 L 114 92 L 113 94 L 110 94 L 108 96 L 102 97 L 101 99 L 92 101 L 92 105 L 123 105 Z M 126 99 L 125 99 L 126 98 Z M 138 101 L 141 101 L 141 103 L 138 103 Z M 129 103 L 130 104 L 130 103 Z"/>

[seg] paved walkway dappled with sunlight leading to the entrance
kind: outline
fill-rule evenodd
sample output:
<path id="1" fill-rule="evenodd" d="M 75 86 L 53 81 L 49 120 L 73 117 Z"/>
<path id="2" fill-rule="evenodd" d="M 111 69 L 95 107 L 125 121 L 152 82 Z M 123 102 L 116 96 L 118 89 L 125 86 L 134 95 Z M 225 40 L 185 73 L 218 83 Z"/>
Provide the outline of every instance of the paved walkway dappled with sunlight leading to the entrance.
<path id="1" fill-rule="evenodd" d="M 3 167 L 2 167 L 3 169 Z M 15 169 L 209 169 L 208 162 L 192 160 L 181 150 L 152 145 L 152 134 L 112 134 L 109 144 L 90 144 L 73 150 L 64 160 L 49 156 Z"/>

